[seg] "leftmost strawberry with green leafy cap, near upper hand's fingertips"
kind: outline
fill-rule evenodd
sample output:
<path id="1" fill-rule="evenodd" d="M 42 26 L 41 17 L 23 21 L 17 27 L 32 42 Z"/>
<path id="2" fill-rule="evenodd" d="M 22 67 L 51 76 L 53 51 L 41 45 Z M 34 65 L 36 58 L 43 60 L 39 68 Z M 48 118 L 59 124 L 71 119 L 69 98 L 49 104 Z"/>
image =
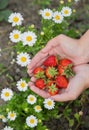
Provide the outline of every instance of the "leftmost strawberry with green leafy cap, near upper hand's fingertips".
<path id="1" fill-rule="evenodd" d="M 44 69 L 42 67 L 36 67 L 34 70 L 33 70 L 33 74 L 34 76 L 37 78 L 37 79 L 40 79 L 40 78 L 44 78 L 45 75 L 44 75 Z"/>

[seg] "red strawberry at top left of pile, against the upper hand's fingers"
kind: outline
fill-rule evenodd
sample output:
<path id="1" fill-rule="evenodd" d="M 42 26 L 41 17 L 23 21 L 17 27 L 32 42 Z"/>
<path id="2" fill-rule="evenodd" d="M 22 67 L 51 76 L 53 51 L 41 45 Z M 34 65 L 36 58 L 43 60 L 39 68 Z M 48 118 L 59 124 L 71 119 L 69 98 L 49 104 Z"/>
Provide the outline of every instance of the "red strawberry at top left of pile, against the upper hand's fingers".
<path id="1" fill-rule="evenodd" d="M 56 66 L 57 57 L 54 55 L 49 56 L 43 63 L 44 66 Z"/>

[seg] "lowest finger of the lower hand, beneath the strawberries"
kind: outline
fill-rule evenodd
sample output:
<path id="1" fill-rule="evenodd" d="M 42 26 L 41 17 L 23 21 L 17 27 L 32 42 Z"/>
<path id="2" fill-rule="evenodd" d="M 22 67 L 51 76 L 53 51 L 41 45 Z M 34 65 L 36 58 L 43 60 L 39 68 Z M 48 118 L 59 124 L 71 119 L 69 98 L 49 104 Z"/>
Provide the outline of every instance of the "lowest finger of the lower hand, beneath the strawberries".
<path id="1" fill-rule="evenodd" d="M 41 97 L 43 97 L 43 98 L 49 98 L 49 97 L 50 97 L 50 95 L 49 95 L 46 91 L 41 90 L 41 89 L 35 87 L 35 86 L 32 85 L 31 83 L 29 83 L 29 86 L 30 86 L 30 89 L 31 89 L 34 93 L 38 94 L 39 96 L 41 96 Z"/>

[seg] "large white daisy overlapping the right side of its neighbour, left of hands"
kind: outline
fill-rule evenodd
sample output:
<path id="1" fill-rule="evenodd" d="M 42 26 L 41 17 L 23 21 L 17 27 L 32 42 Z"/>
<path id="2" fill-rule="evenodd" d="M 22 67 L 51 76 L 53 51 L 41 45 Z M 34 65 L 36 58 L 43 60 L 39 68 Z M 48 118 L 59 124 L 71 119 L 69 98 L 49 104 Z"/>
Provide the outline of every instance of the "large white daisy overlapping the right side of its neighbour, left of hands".
<path id="1" fill-rule="evenodd" d="M 37 36 L 34 32 L 28 31 L 22 34 L 21 40 L 24 46 L 25 45 L 33 46 L 36 43 Z"/>

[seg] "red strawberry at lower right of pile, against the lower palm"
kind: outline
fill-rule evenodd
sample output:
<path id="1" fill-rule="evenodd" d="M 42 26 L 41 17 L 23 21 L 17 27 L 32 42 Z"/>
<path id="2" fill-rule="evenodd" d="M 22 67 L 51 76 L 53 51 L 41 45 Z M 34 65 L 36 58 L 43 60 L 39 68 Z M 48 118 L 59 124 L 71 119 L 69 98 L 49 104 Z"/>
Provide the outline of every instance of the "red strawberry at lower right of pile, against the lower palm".
<path id="1" fill-rule="evenodd" d="M 67 88 L 68 80 L 64 76 L 57 76 L 56 84 L 59 86 L 59 88 Z"/>

